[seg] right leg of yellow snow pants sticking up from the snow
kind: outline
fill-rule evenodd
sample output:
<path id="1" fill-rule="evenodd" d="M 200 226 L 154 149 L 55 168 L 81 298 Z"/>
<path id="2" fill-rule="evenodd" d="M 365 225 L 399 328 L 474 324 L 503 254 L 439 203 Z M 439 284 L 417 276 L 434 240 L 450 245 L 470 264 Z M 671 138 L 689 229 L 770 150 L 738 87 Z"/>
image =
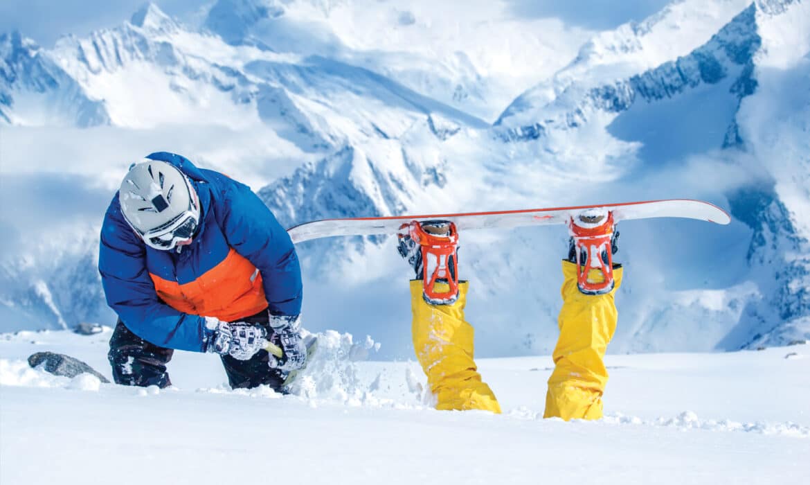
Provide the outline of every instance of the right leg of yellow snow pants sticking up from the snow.
<path id="1" fill-rule="evenodd" d="M 560 337 L 553 354 L 554 371 L 548 378 L 544 418 L 599 419 L 608 383 L 603 358 L 616 331 L 618 312 L 613 298 L 621 285 L 622 268 L 613 271 L 613 290 L 599 295 L 578 290 L 576 264 L 563 261 L 562 272 Z"/>

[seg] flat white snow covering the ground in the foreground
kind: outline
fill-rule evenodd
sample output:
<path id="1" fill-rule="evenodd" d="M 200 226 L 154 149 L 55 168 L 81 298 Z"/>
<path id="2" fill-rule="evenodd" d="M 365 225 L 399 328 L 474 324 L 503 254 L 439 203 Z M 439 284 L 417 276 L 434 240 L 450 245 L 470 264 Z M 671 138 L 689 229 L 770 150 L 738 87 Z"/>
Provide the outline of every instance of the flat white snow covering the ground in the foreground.
<path id="1" fill-rule="evenodd" d="M 807 345 L 610 355 L 606 417 L 570 423 L 541 418 L 548 356 L 479 360 L 502 415 L 431 409 L 416 363 L 352 360 L 353 339 L 339 333 L 324 334 L 309 370 L 334 385 L 314 395 L 231 391 L 206 354 L 177 352 L 176 387 L 163 390 L 24 362 L 53 350 L 109 376 L 110 332 L 0 335 L 0 483 L 801 483 L 810 473 Z"/>

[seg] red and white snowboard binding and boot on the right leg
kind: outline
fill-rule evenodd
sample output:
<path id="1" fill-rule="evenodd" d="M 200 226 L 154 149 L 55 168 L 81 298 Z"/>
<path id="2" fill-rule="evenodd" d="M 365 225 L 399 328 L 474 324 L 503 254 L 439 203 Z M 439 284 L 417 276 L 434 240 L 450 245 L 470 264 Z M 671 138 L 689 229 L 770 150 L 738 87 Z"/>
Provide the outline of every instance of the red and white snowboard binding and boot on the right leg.
<path id="1" fill-rule="evenodd" d="M 568 260 L 577 264 L 577 287 L 583 294 L 607 294 L 613 290 L 613 255 L 619 251 L 619 231 L 613 213 L 603 208 L 579 212 L 569 221 Z"/>

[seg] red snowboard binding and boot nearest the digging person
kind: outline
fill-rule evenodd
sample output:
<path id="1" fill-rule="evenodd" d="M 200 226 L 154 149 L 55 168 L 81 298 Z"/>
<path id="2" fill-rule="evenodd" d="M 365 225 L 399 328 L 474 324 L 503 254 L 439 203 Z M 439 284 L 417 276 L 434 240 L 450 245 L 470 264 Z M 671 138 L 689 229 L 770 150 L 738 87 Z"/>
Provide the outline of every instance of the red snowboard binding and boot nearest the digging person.
<path id="1" fill-rule="evenodd" d="M 424 301 L 451 305 L 458 299 L 458 232 L 450 221 L 411 221 L 399 227 L 399 254 L 422 280 Z M 419 245 L 418 247 L 416 245 Z M 437 283 L 447 290 L 437 289 Z"/>

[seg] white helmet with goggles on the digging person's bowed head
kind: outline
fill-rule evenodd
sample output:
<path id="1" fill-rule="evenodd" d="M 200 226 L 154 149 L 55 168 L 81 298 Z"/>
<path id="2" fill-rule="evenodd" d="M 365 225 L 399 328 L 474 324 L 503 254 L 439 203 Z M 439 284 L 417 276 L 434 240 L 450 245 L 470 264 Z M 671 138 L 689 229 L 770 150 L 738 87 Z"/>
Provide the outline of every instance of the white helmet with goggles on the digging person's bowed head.
<path id="1" fill-rule="evenodd" d="M 130 167 L 118 200 L 126 222 L 148 246 L 168 251 L 190 243 L 200 217 L 190 180 L 174 165 L 144 159 Z"/>

